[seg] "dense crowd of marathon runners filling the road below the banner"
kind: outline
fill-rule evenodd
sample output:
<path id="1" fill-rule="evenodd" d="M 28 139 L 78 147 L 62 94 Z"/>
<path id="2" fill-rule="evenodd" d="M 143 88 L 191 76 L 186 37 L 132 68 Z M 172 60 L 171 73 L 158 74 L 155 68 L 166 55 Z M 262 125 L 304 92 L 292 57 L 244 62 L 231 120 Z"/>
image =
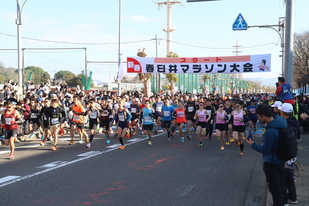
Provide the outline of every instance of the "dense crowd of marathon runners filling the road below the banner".
<path id="1" fill-rule="evenodd" d="M 166 132 L 167 141 L 178 137 L 184 142 L 196 133 L 199 147 L 203 146 L 203 139 L 213 137 L 215 129 L 216 138 L 221 140 L 218 149 L 224 150 L 225 145 L 233 142 L 243 156 L 244 137 L 252 138 L 256 131 L 257 105 L 276 106 L 276 98 L 268 94 L 178 92 L 145 97 L 134 91 L 119 96 L 111 91 L 83 91 L 79 87 L 73 91 L 63 85 L 51 89 L 42 84 L 17 100 L 9 84 L 4 89 L 8 94 L 0 105 L 2 138 L 10 145 L 10 159 L 14 158 L 14 143 L 23 135 L 41 138 L 41 146 L 52 141 L 53 151 L 57 150 L 58 136 L 66 133 L 70 136 L 69 145 L 76 142 L 74 136 L 78 134 L 78 142 L 87 148 L 91 147 L 95 135 L 104 135 L 106 144 L 111 143 L 113 135 L 119 139 L 119 149 L 125 149 L 124 139 L 137 133 L 145 135 L 147 144 L 152 145 L 152 135 L 161 128 Z M 302 103 L 308 105 L 308 99 Z M 304 126 L 304 132 L 308 131 L 306 128 Z"/>

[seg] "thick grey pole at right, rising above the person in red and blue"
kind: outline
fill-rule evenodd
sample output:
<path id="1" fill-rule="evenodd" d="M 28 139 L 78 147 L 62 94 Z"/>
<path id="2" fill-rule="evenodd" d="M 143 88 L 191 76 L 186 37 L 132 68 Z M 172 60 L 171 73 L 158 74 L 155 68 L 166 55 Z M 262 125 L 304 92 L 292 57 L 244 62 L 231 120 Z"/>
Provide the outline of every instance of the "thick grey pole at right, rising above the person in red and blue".
<path id="1" fill-rule="evenodd" d="M 285 81 L 293 83 L 293 43 L 294 43 L 294 0 L 286 0 L 285 13 L 285 47 L 284 47 L 284 77 Z"/>

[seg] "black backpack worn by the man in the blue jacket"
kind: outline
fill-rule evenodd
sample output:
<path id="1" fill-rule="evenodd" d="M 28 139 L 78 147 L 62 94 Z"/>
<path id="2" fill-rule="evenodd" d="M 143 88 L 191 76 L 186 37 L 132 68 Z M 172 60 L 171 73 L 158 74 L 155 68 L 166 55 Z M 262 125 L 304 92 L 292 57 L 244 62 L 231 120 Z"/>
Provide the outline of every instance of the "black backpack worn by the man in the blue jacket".
<path id="1" fill-rule="evenodd" d="M 297 136 L 299 123 L 287 119 L 287 127 L 279 129 L 279 147 L 275 151 L 279 159 L 288 161 L 297 156 Z"/>

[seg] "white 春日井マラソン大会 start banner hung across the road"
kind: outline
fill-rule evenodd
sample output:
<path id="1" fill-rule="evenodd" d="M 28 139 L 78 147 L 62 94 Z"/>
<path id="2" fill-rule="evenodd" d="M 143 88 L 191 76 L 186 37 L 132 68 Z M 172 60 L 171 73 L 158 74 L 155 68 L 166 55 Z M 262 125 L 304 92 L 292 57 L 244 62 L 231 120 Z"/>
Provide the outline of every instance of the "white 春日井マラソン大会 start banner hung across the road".
<path id="1" fill-rule="evenodd" d="M 270 72 L 271 55 L 226 57 L 152 58 L 128 57 L 128 73 L 218 73 Z"/>

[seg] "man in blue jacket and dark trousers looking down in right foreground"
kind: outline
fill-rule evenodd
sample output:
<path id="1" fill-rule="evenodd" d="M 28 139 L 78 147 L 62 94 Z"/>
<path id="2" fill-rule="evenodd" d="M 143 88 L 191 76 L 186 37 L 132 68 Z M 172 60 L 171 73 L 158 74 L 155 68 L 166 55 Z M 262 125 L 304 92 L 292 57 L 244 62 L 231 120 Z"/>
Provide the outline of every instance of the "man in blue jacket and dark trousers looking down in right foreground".
<path id="1" fill-rule="evenodd" d="M 281 116 L 273 117 L 269 105 L 259 105 L 256 114 L 261 123 L 267 124 L 263 135 L 263 144 L 258 145 L 252 139 L 247 139 L 247 143 L 251 145 L 252 149 L 263 153 L 263 170 L 273 203 L 275 206 L 283 206 L 287 203 L 284 161 L 280 160 L 273 151 L 279 146 L 279 129 L 285 128 L 287 122 Z"/>

